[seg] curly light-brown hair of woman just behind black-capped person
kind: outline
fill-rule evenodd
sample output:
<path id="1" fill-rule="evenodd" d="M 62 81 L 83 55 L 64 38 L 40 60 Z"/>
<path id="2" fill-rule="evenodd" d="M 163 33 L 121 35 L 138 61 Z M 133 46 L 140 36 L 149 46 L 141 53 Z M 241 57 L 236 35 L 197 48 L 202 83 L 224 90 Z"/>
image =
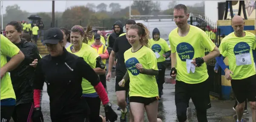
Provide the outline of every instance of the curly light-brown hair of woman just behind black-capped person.
<path id="1" fill-rule="evenodd" d="M 82 42 L 88 44 L 88 40 L 92 39 L 93 32 L 92 32 L 92 26 L 88 25 L 86 28 L 86 31 L 83 29 L 81 25 L 75 25 L 71 28 L 71 32 L 79 32 L 81 36 L 83 37 Z"/>

